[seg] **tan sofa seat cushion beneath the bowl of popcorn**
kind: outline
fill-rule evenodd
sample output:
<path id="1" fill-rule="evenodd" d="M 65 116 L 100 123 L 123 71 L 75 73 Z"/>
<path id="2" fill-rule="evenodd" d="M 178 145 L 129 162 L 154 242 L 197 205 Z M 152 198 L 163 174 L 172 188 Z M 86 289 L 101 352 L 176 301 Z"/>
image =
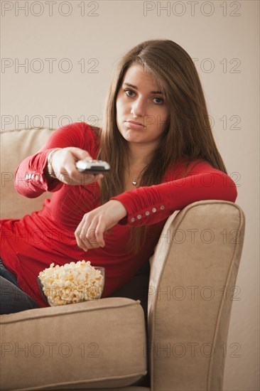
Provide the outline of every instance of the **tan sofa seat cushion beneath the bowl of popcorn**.
<path id="1" fill-rule="evenodd" d="M 126 387 L 146 375 L 140 301 L 114 297 L 1 315 L 1 390 Z"/>

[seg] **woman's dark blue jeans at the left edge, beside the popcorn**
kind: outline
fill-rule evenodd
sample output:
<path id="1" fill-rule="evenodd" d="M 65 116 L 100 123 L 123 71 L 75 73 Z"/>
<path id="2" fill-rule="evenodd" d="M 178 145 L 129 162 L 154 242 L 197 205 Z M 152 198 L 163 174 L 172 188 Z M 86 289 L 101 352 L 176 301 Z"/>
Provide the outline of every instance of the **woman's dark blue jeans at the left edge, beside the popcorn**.
<path id="1" fill-rule="evenodd" d="M 4 267 L 0 259 L 0 314 L 13 314 L 40 306 L 21 290 L 16 276 Z"/>

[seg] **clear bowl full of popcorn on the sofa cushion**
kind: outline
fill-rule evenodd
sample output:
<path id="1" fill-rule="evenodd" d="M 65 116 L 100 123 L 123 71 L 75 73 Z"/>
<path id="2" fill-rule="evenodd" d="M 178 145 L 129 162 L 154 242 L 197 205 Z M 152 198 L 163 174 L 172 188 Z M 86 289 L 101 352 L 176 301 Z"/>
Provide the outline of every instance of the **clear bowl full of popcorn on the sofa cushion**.
<path id="1" fill-rule="evenodd" d="M 93 267 L 85 260 L 63 266 L 52 263 L 39 273 L 38 285 L 50 306 L 100 299 L 104 288 L 104 267 Z"/>

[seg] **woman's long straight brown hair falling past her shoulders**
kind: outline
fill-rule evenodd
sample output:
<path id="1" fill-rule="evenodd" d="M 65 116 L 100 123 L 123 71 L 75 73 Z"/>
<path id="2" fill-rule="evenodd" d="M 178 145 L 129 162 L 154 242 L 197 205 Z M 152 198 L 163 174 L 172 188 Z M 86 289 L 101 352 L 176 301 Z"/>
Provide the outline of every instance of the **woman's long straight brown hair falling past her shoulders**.
<path id="1" fill-rule="evenodd" d="M 190 55 L 170 40 L 144 41 L 119 59 L 109 83 L 98 159 L 110 162 L 112 168 L 102 179 L 102 203 L 124 191 L 128 142 L 117 128 L 116 100 L 126 70 L 138 64 L 154 77 L 170 108 L 161 143 L 143 170 L 139 186 L 161 183 L 166 170 L 184 157 L 188 158 L 186 168 L 195 159 L 202 159 L 227 173 L 212 135 L 202 85 Z M 132 231 L 131 250 L 137 252 L 142 235 L 145 242 L 145 226 L 134 227 Z"/>

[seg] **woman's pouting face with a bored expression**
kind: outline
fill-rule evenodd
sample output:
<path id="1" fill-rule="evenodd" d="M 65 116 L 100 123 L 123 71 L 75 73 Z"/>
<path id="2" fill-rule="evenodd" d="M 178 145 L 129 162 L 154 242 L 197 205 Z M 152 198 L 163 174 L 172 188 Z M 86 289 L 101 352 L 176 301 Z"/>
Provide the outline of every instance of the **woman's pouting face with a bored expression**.
<path id="1" fill-rule="evenodd" d="M 117 127 L 131 143 L 158 145 L 169 108 L 153 77 L 141 65 L 126 70 L 117 95 Z"/>

